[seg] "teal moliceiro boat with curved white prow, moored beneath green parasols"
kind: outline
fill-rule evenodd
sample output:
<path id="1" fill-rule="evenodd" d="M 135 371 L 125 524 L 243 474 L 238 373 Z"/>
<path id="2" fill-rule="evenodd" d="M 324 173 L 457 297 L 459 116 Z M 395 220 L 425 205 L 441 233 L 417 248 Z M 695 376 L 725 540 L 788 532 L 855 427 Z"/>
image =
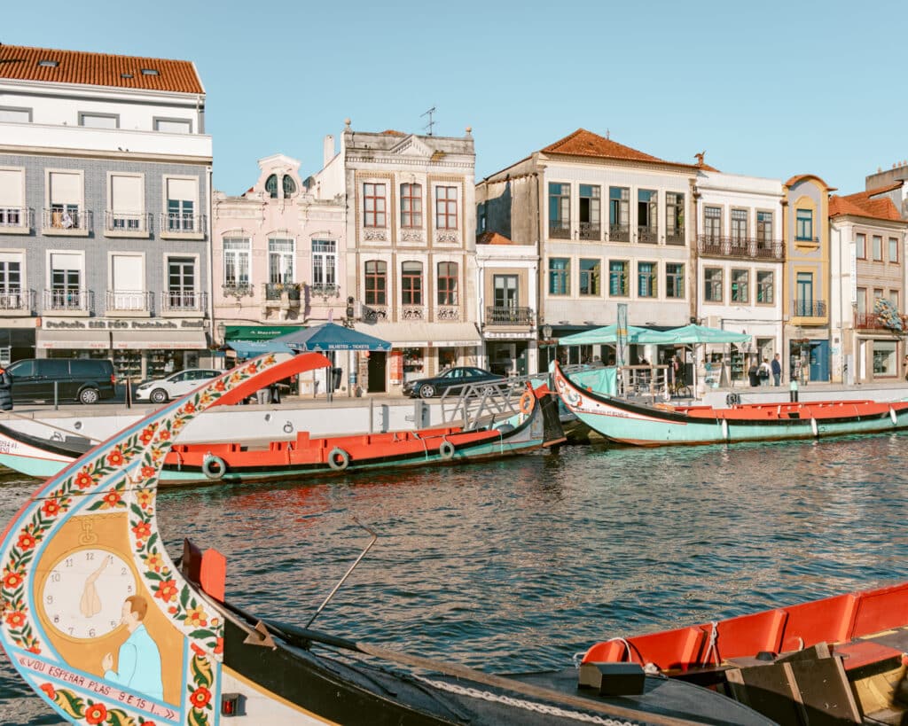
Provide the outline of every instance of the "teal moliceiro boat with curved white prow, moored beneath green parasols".
<path id="1" fill-rule="evenodd" d="M 728 408 L 646 404 L 577 385 L 558 364 L 554 387 L 565 407 L 609 441 L 636 446 L 779 441 L 879 434 L 908 427 L 908 402 L 820 401 Z"/>

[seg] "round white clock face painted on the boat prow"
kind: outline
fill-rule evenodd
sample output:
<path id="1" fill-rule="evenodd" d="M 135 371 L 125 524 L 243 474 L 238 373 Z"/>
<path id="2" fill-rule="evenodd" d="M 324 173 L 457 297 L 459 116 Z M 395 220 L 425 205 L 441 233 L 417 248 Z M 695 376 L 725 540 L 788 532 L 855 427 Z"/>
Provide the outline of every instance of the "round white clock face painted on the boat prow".
<path id="1" fill-rule="evenodd" d="M 114 630 L 123 601 L 135 594 L 133 570 L 100 547 L 82 547 L 54 564 L 41 593 L 44 617 L 70 638 L 99 638 Z"/>

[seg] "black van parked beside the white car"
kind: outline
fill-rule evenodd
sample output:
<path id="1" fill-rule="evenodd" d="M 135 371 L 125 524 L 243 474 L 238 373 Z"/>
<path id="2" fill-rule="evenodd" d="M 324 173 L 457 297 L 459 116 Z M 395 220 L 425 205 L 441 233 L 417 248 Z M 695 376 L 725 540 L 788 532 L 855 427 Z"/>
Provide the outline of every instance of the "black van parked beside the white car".
<path id="1" fill-rule="evenodd" d="M 104 358 L 23 358 L 7 371 L 13 377 L 13 402 L 57 400 L 97 403 L 114 397 L 114 364 Z"/>

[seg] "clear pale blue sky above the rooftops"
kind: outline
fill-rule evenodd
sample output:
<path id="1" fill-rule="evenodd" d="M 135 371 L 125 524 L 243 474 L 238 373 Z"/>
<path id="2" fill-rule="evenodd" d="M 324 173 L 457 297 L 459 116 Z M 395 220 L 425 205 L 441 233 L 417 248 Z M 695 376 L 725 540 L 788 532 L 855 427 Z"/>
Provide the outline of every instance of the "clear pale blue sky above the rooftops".
<path id="1" fill-rule="evenodd" d="M 908 158 L 903 4 L 6 0 L 0 42 L 192 60 L 214 184 L 325 134 L 472 127 L 478 178 L 583 127 L 676 162 L 840 193 Z"/>

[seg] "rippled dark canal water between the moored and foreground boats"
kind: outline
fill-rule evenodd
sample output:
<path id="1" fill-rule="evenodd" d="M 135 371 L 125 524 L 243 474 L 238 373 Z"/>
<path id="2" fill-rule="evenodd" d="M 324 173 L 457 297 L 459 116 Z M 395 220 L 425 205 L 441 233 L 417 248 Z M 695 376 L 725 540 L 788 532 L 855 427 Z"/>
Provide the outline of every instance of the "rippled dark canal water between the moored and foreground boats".
<path id="1" fill-rule="evenodd" d="M 165 491 L 159 524 L 228 557 L 228 598 L 489 672 L 618 635 L 908 579 L 908 437 L 631 449 L 286 486 Z M 7 522 L 35 488 L 0 483 Z M 59 720 L 0 654 L 0 721 Z"/>

